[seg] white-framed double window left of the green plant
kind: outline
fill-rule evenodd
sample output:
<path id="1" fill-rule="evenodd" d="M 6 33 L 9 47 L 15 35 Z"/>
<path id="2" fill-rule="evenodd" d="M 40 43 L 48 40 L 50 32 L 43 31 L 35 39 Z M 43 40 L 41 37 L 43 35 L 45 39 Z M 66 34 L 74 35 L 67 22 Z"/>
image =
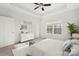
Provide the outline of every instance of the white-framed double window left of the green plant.
<path id="1" fill-rule="evenodd" d="M 50 34 L 62 34 L 62 28 L 60 23 L 56 24 L 48 24 L 47 25 L 47 33 Z"/>

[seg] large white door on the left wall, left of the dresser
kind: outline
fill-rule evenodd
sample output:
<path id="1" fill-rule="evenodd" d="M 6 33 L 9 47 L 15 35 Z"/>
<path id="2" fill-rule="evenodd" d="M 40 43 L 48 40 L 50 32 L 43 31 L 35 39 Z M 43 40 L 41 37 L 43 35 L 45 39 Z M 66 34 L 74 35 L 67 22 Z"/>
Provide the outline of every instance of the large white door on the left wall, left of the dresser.
<path id="1" fill-rule="evenodd" d="M 11 18 L 0 17 L 0 47 L 15 43 L 15 23 Z"/>

